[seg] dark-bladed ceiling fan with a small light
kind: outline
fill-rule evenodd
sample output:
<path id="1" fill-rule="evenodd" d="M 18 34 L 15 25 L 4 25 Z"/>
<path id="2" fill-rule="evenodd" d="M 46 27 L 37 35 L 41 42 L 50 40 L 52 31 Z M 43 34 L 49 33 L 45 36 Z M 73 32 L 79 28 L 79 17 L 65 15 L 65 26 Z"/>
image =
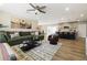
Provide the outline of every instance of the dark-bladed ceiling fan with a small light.
<path id="1" fill-rule="evenodd" d="M 41 13 L 46 13 L 45 11 L 43 11 L 43 9 L 45 9 L 46 6 L 40 7 L 40 6 L 34 6 L 34 4 L 32 4 L 32 3 L 30 3 L 30 6 L 31 6 L 33 9 L 28 9 L 26 11 L 39 11 L 39 12 L 41 12 Z M 35 14 L 37 14 L 37 12 L 35 12 Z"/>

